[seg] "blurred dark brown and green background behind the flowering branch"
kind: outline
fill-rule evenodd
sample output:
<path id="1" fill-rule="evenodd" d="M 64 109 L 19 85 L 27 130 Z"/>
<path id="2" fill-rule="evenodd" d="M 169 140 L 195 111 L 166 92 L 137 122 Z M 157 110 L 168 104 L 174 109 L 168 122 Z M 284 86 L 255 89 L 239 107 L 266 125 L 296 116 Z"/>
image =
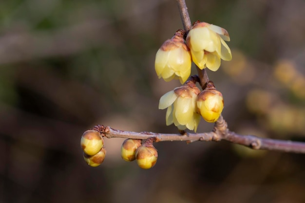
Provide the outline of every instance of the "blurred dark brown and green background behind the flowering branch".
<path id="1" fill-rule="evenodd" d="M 187 5 L 229 32 L 232 61 L 208 71 L 229 129 L 305 141 L 305 1 Z M 177 132 L 158 102 L 179 82 L 157 78 L 154 56 L 180 28 L 175 0 L 1 0 L 0 202 L 304 203 L 302 154 L 163 142 L 144 170 L 113 138 L 104 163 L 86 165 L 80 136 L 96 124 Z"/>

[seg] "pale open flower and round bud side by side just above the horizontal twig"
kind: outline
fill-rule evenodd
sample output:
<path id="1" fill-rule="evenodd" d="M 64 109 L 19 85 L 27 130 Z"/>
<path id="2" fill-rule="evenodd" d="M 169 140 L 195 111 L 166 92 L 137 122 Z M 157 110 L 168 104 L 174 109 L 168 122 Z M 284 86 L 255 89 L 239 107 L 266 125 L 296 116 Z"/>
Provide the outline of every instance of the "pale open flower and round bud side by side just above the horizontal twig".
<path id="1" fill-rule="evenodd" d="M 196 131 L 200 115 L 207 122 L 216 122 L 224 108 L 224 99 L 213 82 L 202 92 L 192 81 L 167 92 L 160 98 L 159 109 L 166 109 L 166 125 Z"/>

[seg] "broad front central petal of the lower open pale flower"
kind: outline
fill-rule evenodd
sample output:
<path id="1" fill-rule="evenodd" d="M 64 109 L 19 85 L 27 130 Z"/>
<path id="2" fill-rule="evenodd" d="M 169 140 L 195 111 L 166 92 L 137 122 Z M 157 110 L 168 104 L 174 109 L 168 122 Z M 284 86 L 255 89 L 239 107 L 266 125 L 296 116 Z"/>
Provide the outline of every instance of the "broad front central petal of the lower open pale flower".
<path id="1" fill-rule="evenodd" d="M 180 125 L 186 125 L 193 116 L 191 98 L 178 97 L 174 102 L 174 117 Z"/>

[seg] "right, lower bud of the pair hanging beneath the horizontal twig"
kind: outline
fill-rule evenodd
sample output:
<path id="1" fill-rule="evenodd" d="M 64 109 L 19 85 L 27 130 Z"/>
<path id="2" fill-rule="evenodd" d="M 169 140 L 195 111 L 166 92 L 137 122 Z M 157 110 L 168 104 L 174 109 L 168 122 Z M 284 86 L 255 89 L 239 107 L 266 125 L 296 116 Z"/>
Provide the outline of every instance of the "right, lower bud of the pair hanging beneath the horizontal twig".
<path id="1" fill-rule="evenodd" d="M 150 144 L 143 144 L 135 151 L 136 163 L 144 169 L 153 167 L 157 162 L 157 158 L 157 149 Z"/>

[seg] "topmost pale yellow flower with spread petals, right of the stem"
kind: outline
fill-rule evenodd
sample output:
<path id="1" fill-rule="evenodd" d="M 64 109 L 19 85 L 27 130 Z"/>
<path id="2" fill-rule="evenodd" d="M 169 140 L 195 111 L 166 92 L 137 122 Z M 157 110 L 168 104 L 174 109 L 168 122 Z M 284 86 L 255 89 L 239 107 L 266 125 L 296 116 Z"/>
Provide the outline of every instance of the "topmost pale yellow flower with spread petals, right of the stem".
<path id="1" fill-rule="evenodd" d="M 194 63 L 201 70 L 208 67 L 217 71 L 220 59 L 232 59 L 231 50 L 224 40 L 230 40 L 227 30 L 206 22 L 195 23 L 187 36 Z"/>

